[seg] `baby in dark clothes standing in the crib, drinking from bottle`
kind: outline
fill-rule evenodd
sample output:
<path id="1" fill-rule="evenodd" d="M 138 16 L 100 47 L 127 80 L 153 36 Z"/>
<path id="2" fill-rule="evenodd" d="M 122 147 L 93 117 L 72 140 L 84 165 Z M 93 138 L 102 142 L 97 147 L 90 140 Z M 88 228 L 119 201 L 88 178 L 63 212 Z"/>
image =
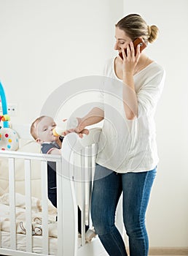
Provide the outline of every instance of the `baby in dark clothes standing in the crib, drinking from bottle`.
<path id="1" fill-rule="evenodd" d="M 41 145 L 43 154 L 61 154 L 63 137 L 54 135 L 56 124 L 50 116 L 40 116 L 31 124 L 31 135 Z M 57 208 L 56 164 L 47 162 L 47 187 L 48 198 Z M 78 206 L 78 231 L 81 234 L 81 211 Z M 86 241 L 90 242 L 95 237 L 95 232 L 85 225 Z"/>

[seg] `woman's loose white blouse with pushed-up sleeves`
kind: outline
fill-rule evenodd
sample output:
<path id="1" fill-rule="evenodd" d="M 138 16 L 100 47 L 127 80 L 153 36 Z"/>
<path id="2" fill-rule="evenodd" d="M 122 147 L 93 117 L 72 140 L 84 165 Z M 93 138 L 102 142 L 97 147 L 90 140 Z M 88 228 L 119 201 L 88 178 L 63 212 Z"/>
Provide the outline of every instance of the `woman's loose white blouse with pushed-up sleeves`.
<path id="1" fill-rule="evenodd" d="M 104 121 L 96 162 L 117 173 L 153 170 L 159 159 L 155 140 L 154 113 L 165 80 L 165 71 L 156 62 L 134 75 L 138 117 L 128 120 L 122 102 L 122 80 L 114 72 L 114 59 L 103 73 L 100 102 Z"/>

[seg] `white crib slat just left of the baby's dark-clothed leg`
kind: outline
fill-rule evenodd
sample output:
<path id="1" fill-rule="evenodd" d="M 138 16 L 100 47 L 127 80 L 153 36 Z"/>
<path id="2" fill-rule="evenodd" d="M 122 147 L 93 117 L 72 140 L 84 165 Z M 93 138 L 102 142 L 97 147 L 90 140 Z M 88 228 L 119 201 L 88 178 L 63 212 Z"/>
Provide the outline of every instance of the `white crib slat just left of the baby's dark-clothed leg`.
<path id="1" fill-rule="evenodd" d="M 41 162 L 42 177 L 42 241 L 43 253 L 48 255 L 47 161 Z"/>

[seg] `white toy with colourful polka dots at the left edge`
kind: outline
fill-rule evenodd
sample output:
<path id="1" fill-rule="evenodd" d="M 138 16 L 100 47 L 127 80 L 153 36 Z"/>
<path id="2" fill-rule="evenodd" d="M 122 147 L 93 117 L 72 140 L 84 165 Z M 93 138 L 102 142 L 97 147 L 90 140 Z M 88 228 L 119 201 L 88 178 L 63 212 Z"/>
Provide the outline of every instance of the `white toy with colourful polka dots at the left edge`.
<path id="1" fill-rule="evenodd" d="M 17 133 L 11 128 L 0 129 L 0 150 L 17 150 L 19 138 Z"/>

